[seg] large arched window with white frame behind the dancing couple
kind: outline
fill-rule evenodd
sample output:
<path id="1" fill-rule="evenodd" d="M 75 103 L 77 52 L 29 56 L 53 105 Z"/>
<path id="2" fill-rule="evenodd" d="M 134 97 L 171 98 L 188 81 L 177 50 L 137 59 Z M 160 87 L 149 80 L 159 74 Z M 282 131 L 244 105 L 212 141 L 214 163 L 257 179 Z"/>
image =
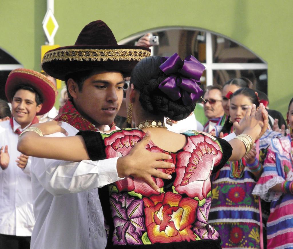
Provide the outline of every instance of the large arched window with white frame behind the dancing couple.
<path id="1" fill-rule="evenodd" d="M 195 56 L 206 67 L 202 86 L 220 84 L 235 77 L 250 79 L 258 90 L 267 93 L 267 63 L 248 48 L 220 34 L 195 28 L 158 28 L 127 37 L 119 44 L 134 45 L 146 33 L 159 36 L 159 45 L 151 47 L 153 55 L 181 58 Z"/>

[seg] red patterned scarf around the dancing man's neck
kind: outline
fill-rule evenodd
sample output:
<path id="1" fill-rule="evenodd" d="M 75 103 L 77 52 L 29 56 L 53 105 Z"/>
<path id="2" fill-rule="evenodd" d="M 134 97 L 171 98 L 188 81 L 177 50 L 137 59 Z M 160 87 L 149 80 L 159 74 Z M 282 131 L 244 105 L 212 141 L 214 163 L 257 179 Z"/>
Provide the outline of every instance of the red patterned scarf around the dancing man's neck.
<path id="1" fill-rule="evenodd" d="M 81 116 L 81 114 L 75 109 L 73 103 L 69 99 L 65 102 L 64 106 L 59 109 L 59 114 L 56 118 L 54 118 L 54 120 L 69 123 L 77 130 L 98 131 L 96 126 Z M 109 126 L 111 130 L 116 129 L 114 122 Z"/>

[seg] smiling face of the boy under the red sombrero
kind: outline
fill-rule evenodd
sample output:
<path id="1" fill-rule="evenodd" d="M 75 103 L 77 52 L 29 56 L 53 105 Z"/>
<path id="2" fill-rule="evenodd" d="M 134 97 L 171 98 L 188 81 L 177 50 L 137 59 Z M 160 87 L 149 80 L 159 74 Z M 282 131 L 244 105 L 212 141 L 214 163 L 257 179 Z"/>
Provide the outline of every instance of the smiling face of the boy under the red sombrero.
<path id="1" fill-rule="evenodd" d="M 13 96 L 11 108 L 14 119 L 21 128 L 24 128 L 33 121 L 36 113 L 41 110 L 42 104 L 37 105 L 34 92 L 20 89 Z"/>

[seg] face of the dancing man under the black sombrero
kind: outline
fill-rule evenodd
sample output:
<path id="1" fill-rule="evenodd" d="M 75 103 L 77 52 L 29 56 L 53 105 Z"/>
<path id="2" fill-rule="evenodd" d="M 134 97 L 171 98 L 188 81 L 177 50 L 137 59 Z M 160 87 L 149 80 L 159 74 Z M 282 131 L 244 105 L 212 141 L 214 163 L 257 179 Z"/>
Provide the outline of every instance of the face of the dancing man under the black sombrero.
<path id="1" fill-rule="evenodd" d="M 110 125 L 123 99 L 123 76 L 118 72 L 98 72 L 84 81 L 74 99 L 76 109 L 97 128 Z"/>

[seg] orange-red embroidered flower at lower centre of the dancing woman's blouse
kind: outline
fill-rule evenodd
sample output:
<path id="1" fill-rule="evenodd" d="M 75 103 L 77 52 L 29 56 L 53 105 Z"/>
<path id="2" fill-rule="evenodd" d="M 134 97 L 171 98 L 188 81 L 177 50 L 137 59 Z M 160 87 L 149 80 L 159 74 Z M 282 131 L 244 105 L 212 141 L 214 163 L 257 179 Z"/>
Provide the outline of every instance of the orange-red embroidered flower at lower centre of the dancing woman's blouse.
<path id="1" fill-rule="evenodd" d="M 198 202 L 167 192 L 143 198 L 145 225 L 151 243 L 194 241 L 192 224 Z"/>

